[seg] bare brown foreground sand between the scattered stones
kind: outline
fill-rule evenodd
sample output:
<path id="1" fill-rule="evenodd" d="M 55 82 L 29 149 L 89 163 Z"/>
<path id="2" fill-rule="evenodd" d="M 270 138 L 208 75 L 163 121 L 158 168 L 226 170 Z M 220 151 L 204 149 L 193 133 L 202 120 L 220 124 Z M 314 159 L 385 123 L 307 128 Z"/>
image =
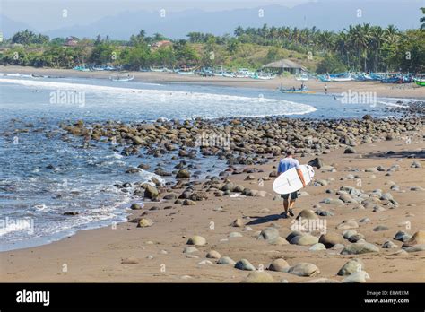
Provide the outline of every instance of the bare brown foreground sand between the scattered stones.
<path id="1" fill-rule="evenodd" d="M 290 120 L 290 125 L 300 123 L 297 120 L 291 121 L 291 118 L 281 119 Z M 232 118 L 230 120 L 236 122 L 238 119 Z M 200 121 L 200 125 L 204 125 L 203 122 L 207 123 Z M 273 125 L 273 122 L 269 121 L 265 125 Z M 84 135 L 83 129 L 70 127 L 66 130 L 70 134 L 82 136 Z M 294 131 L 294 133 L 297 133 L 297 131 Z M 333 212 L 334 216 L 332 217 L 320 218 L 329 222 L 329 231 L 335 231 L 335 227 L 338 227 L 343 220 L 355 219 L 359 221 L 360 216 L 368 216 L 371 220 L 370 224 L 361 224 L 356 230 L 365 235 L 368 242 L 377 245 L 382 244 L 384 239 L 391 239 L 397 230 L 403 230 L 400 225 L 397 225 L 401 221 L 410 220 L 412 222 L 412 227 L 408 230 L 410 234 L 423 230 L 421 229 L 423 220 L 420 218 L 414 221 L 416 219 L 414 215 L 421 217 L 421 198 L 423 198 L 423 195 L 421 191 L 413 192 L 409 190 L 411 186 L 425 186 L 421 179 L 423 169 L 410 168 L 413 160 L 400 160 L 405 157 L 403 156 L 405 152 L 423 151 L 425 145 L 421 136 L 424 132 L 421 128 L 409 134 L 409 137 L 410 135 L 413 137 L 412 143 L 409 144 L 406 144 L 405 141 L 407 134 L 395 134 L 395 138 L 387 141 L 377 140 L 356 144 L 355 149 L 357 151 L 353 154 L 344 153 L 344 146 L 348 145 L 340 143 L 335 145 L 335 149 L 331 148 L 326 153 L 301 153 L 302 147 L 300 146 L 297 153 L 300 163 L 307 163 L 316 157 L 315 154 L 320 154 L 319 157 L 323 158 L 325 164 L 332 166 L 335 171 L 317 169 L 315 180 L 316 178 L 323 180 L 327 177 L 329 186 L 307 186 L 305 191 L 308 192 L 308 195 L 299 197 L 296 214 L 302 209 L 311 208 Z M 113 133 L 109 137 L 111 135 Z M 123 141 L 123 146 L 126 146 L 125 142 L 126 140 Z M 390 149 L 395 151 L 394 158 L 378 156 L 379 153 L 382 154 Z M 400 156 L 397 156 L 399 154 Z M 272 155 L 267 156 L 267 159 L 271 161 L 265 164 L 261 163 L 261 157 L 257 163 L 235 163 L 235 169 L 228 171 L 230 175 L 223 178 L 244 187 L 258 188 L 256 180 L 268 177 L 280 157 L 279 154 L 273 155 L 272 152 Z M 245 160 L 241 159 L 240 161 Z M 419 161 L 422 162 L 423 166 L 423 160 Z M 356 168 L 359 168 L 358 171 L 351 171 L 352 162 L 354 162 Z M 403 167 L 403 170 L 408 170 L 409 175 L 403 174 L 402 170 L 392 172 L 391 174 L 394 177 L 390 178 L 385 178 L 386 172 L 367 173 L 369 167 L 382 165 L 388 168 L 394 164 Z M 236 169 L 239 165 L 241 169 Z M 230 165 L 231 167 L 232 165 Z M 256 168 L 256 170 L 251 172 L 250 169 L 253 168 Z M 391 191 L 400 206 L 395 209 L 386 208 L 384 212 L 372 212 L 371 208 L 355 209 L 353 203 L 343 205 L 318 204 L 326 196 L 326 188 L 337 190 L 343 185 L 353 186 L 355 180 L 345 177 L 347 174 L 356 173 L 364 179 L 364 187 L 369 191 L 382 188 L 387 192 L 387 189 L 392 186 L 388 184 L 388 180 L 394 179 L 395 183 L 402 188 L 401 191 Z M 253 177 L 248 179 L 249 175 Z M 193 187 L 199 194 L 204 192 L 205 180 L 195 179 L 195 182 L 187 184 L 187 181 L 183 180 L 179 184 L 171 183 L 168 186 L 168 191 L 178 195 L 181 192 L 184 193 L 186 187 Z M 214 249 L 220 252 L 221 256 L 230 256 L 235 261 L 247 257 L 256 266 L 266 265 L 272 262 L 273 258 L 282 256 L 291 265 L 299 262 L 311 262 L 317 264 L 317 267 L 321 270 L 321 273 L 314 278 L 313 276 L 299 277 L 290 273 L 270 272 L 275 282 L 280 279 L 286 279 L 289 282 L 307 282 L 316 280 L 317 277 L 341 281 L 341 278 L 334 274 L 352 256 L 340 255 L 333 249 L 325 249 L 312 254 L 308 250 L 309 246 L 299 246 L 289 242 L 282 243 L 282 245 L 267 244 L 265 241 L 256 239 L 258 231 L 273 224 L 281 231 L 282 238 L 285 238 L 291 232 L 291 221 L 276 217 L 276 213 L 280 213 L 282 210 L 282 203 L 280 199 L 275 199 L 271 190 L 273 178 L 265 179 L 264 182 L 264 193 L 261 193 L 261 195 L 244 196 L 234 193 L 239 195 L 234 197 L 213 196 L 212 192 L 208 195 L 210 198 L 207 200 L 195 201 L 195 204 L 189 205 L 172 204 L 172 200 L 146 201 L 143 202 L 143 210 L 131 211 L 130 221 L 118 223 L 116 229 L 108 226 L 100 229 L 78 230 L 75 235 L 48 245 L 0 252 L 0 263 L 4 267 L 0 279 L 2 282 L 239 282 L 247 276 L 247 271 L 234 269 L 231 265 L 213 264 L 216 259 L 208 257 L 205 259 L 204 254 Z M 334 197 L 334 192 L 330 194 L 331 197 Z M 317 205 L 321 207 L 319 208 Z M 219 207 L 221 209 L 218 209 Z M 140 212 L 143 213 L 140 214 Z M 412 216 L 409 217 L 409 214 Z M 152 218 L 152 226 L 137 228 L 131 219 L 141 217 Z M 230 226 L 232 221 L 237 219 L 245 223 L 242 228 Z M 211 229 L 211 222 L 214 224 L 214 229 Z M 391 231 L 376 232 L 372 230 L 381 223 L 386 223 Z M 249 230 L 248 228 L 252 229 Z M 343 230 L 336 231 L 343 232 Z M 239 232 L 242 237 L 231 237 L 233 232 Z M 204 236 L 207 239 L 206 246 L 197 247 L 199 251 L 195 251 L 193 254 L 182 253 L 187 238 L 192 235 Z M 423 259 L 423 256 L 421 255 L 423 254 L 419 252 L 394 256 L 395 251 L 401 250 L 401 243 L 394 242 L 397 245 L 396 249 L 380 248 L 379 254 L 371 253 L 357 256 L 365 262 L 365 270 L 371 275 L 370 282 L 423 282 L 420 274 L 417 274 L 422 269 L 421 259 Z M 347 244 L 350 245 L 348 241 L 344 241 L 344 245 Z M 256 250 L 256 253 L 253 254 L 253 250 Z M 317 255 L 317 259 L 311 259 L 311 256 L 315 255 Z M 90 264 L 87 264 L 88 258 L 91 259 Z M 62 264 L 70 264 L 69 271 L 61 272 Z M 166 264 L 171 272 L 161 272 L 162 264 Z M 388 264 L 394 264 L 397 268 L 402 267 L 408 271 L 410 271 L 409 268 L 413 268 L 413 270 L 412 273 L 406 273 L 399 272 L 397 269 L 394 274 L 388 274 L 385 272 L 385 266 Z M 26 269 L 28 267 L 31 267 L 30 271 Z"/>

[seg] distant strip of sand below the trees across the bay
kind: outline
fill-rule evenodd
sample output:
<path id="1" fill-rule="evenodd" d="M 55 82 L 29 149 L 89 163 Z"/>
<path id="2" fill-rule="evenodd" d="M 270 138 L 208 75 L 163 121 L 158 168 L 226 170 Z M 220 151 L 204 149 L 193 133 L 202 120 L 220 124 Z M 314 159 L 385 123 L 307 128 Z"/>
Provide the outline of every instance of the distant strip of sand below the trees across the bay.
<path id="1" fill-rule="evenodd" d="M 39 74 L 64 78 L 96 78 L 109 79 L 117 72 L 79 72 L 73 69 L 36 68 L 30 66 L 0 66 L 0 73 L 4 74 Z M 255 88 L 276 90 L 281 85 L 284 87 L 299 86 L 301 82 L 293 77 L 277 77 L 273 80 L 255 80 L 248 78 L 226 77 L 201 77 L 197 75 L 186 76 L 174 73 L 156 72 L 126 72 L 134 75 L 134 82 L 169 83 L 169 84 L 192 84 L 192 85 L 216 85 L 235 88 Z M 304 82 L 309 91 L 324 93 L 325 84 L 329 94 L 338 94 L 349 91 L 376 92 L 377 97 L 425 99 L 425 88 L 414 84 L 387 84 L 381 82 Z"/>

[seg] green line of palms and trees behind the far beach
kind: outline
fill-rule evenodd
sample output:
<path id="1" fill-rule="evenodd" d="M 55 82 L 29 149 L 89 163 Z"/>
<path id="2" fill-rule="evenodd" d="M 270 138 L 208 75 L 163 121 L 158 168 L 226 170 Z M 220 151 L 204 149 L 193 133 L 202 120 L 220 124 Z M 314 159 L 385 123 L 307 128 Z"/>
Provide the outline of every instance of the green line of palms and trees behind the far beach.
<path id="1" fill-rule="evenodd" d="M 421 8 L 425 14 L 425 8 Z M 364 23 L 350 25 L 342 31 L 241 26 L 233 35 L 215 36 L 190 32 L 187 39 L 169 40 L 163 47 L 153 45 L 167 38 L 160 33 L 151 37 L 141 30 L 128 40 L 76 39 L 74 46 L 65 46 L 66 39 L 22 30 L 4 40 L 0 54 L 2 65 L 32 65 L 72 68 L 75 65 L 115 65 L 139 70 L 149 66 L 193 67 L 244 65 L 242 51 L 266 47 L 264 60 L 275 60 L 282 49 L 296 51 L 306 60 L 320 59 L 317 73 L 343 71 L 425 72 L 425 17 L 417 30 L 398 30 Z M 290 55 L 291 56 L 291 55 Z M 238 57 L 240 59 L 238 59 Z M 236 58 L 236 59 L 235 59 Z M 230 63 L 231 59 L 231 63 Z"/>

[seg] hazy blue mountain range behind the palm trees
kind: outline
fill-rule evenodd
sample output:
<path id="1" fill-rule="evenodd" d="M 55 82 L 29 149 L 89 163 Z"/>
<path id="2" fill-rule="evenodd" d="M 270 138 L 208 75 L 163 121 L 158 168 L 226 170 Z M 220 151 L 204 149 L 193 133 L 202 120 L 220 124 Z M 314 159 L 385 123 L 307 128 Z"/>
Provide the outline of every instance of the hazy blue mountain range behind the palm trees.
<path id="1" fill-rule="evenodd" d="M 386 27 L 395 24 L 399 29 L 418 28 L 421 18 L 421 0 L 317 0 L 294 7 L 272 4 L 256 8 L 237 8 L 207 12 L 188 9 L 181 12 L 124 11 L 104 16 L 96 21 L 41 31 L 50 38 L 76 36 L 94 38 L 98 34 L 109 35 L 111 39 L 128 39 L 139 30 L 148 35 L 159 32 L 171 39 L 186 38 L 192 31 L 208 32 L 215 35 L 233 34 L 242 27 L 291 26 L 313 27 L 320 30 L 343 30 L 350 24 L 370 22 Z M 6 13 L 1 15 L 4 38 L 16 31 L 30 29 L 37 31 L 37 25 L 30 22 L 13 21 Z"/>

